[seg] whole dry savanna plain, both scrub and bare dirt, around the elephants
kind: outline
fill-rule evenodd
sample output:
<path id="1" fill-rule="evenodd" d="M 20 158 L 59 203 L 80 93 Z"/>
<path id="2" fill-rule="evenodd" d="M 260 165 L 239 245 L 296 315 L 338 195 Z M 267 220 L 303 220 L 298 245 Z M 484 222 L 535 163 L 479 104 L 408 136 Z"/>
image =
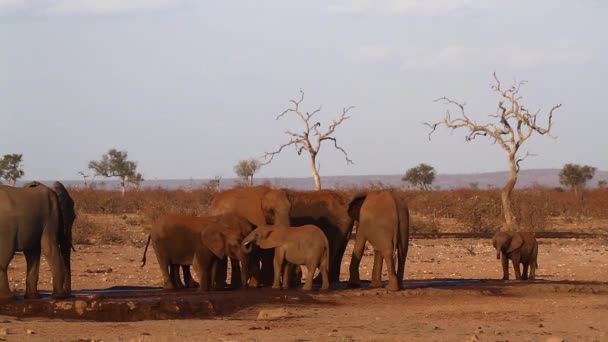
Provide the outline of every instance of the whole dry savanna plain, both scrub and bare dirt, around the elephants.
<path id="1" fill-rule="evenodd" d="M 341 191 L 347 196 L 355 190 Z M 138 320 L 135 313 L 121 311 L 100 313 L 101 321 L 14 313 L 0 316 L 0 341 L 608 341 L 606 189 L 590 191 L 582 200 L 555 189 L 516 192 L 521 226 L 540 236 L 533 282 L 498 280 L 500 261 L 489 238 L 500 219 L 497 191 L 406 192 L 414 234 L 405 289 L 399 292 L 365 283 L 346 288 L 352 240 L 342 262 L 342 284 L 329 291 L 163 291 L 153 251 L 140 267 L 147 230 L 166 212 L 205 214 L 213 191 L 144 190 L 124 199 L 111 191 L 71 193 L 78 210 L 72 257 L 76 296 L 57 302 L 73 305 L 91 293 L 102 294 L 94 297 L 102 301 L 104 292 L 95 291 L 110 289 L 156 296 L 141 301 L 213 299 L 211 314 Z M 362 279 L 371 278 L 372 259 L 368 246 Z M 13 259 L 9 278 L 23 293 L 23 255 Z M 45 262 L 39 288 L 51 288 Z M 52 302 L 48 297 L 34 301 Z"/>

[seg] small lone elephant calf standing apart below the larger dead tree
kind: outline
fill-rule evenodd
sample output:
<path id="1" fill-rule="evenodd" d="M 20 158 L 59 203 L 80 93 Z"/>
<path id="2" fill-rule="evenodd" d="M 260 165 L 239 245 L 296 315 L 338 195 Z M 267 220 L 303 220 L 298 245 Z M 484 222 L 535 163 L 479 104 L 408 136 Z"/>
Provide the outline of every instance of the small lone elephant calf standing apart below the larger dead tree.
<path id="1" fill-rule="evenodd" d="M 513 263 L 515 279 L 534 280 L 538 268 L 538 242 L 533 232 L 499 231 L 492 237 L 492 245 L 496 249 L 496 259 L 501 259 L 502 255 L 503 280 L 509 280 L 509 259 Z M 520 263 L 524 265 L 523 274 L 519 269 Z"/>

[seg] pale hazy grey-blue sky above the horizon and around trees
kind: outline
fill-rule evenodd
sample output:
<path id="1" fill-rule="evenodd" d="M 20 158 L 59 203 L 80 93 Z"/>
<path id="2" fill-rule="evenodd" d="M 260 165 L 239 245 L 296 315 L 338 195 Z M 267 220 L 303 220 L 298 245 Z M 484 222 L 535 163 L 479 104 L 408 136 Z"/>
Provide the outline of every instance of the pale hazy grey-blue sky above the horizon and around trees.
<path id="1" fill-rule="evenodd" d="M 355 164 L 328 144 L 321 175 L 506 170 L 498 145 L 422 125 L 444 95 L 487 120 L 496 71 L 543 119 L 563 104 L 522 168 L 606 170 L 606 32 L 604 0 L 0 0 L 0 155 L 28 179 L 78 179 L 110 148 L 147 179 L 232 177 L 301 129 L 274 118 L 302 89 L 324 128 L 355 106 L 336 131 Z M 260 176 L 309 163 L 288 149 Z"/>

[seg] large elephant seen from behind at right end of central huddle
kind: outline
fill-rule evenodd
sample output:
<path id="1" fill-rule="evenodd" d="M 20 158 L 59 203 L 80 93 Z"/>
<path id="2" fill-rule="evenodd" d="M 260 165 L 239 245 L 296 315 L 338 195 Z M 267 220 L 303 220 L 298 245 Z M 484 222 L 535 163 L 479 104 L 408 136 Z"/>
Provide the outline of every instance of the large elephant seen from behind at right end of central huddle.
<path id="1" fill-rule="evenodd" d="M 349 213 L 358 221 L 349 284 L 360 286 L 359 264 L 365 243 L 369 241 L 374 248 L 371 286 L 382 286 L 382 262 L 386 260 L 389 277 L 387 289 L 398 291 L 403 281 L 409 242 L 409 211 L 404 200 L 388 191 L 369 192 L 355 196 Z"/>

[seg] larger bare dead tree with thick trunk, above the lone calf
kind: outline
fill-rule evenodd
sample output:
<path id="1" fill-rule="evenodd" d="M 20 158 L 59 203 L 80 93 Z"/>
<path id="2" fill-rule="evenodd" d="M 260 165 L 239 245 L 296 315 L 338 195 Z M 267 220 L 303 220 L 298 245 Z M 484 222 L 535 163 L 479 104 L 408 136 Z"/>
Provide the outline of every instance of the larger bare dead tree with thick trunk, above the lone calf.
<path id="1" fill-rule="evenodd" d="M 457 128 L 464 128 L 468 130 L 468 134 L 465 136 L 466 141 L 471 141 L 478 136 L 488 137 L 493 144 L 498 143 L 500 147 L 507 153 L 509 159 L 509 179 L 502 188 L 501 202 L 504 216 L 504 223 L 506 230 L 515 229 L 516 220 L 513 213 L 513 207 L 511 204 L 511 194 L 515 184 L 517 183 L 517 174 L 519 172 L 520 163 L 531 156 L 529 152 L 521 155 L 519 152 L 523 143 L 537 133 L 540 135 L 548 135 L 555 139 L 556 137 L 551 135 L 551 127 L 553 121 L 553 112 L 561 107 L 561 104 L 553 106 L 549 111 L 549 117 L 547 120 L 547 126 L 543 127 L 537 123 L 538 114 L 540 111 L 534 113 L 530 112 L 522 104 L 523 97 L 519 94 L 521 86 L 525 85 L 525 81 L 517 82 L 514 81 L 511 86 L 504 88 L 500 80 L 493 74 L 495 83 L 491 86 L 491 89 L 498 93 L 499 102 L 496 114 L 489 115 L 495 118 L 494 121 L 485 125 L 478 124 L 472 120 L 465 111 L 465 103 L 454 101 L 447 97 L 442 97 L 436 101 L 445 103 L 448 107 L 456 108 L 458 117 L 452 118 L 450 109 L 446 111 L 443 120 L 435 123 L 425 123 L 425 125 L 431 128 L 429 132 L 429 140 L 431 135 L 435 132 L 437 127 L 444 125 L 452 130 Z"/>

